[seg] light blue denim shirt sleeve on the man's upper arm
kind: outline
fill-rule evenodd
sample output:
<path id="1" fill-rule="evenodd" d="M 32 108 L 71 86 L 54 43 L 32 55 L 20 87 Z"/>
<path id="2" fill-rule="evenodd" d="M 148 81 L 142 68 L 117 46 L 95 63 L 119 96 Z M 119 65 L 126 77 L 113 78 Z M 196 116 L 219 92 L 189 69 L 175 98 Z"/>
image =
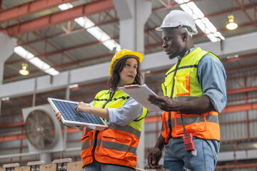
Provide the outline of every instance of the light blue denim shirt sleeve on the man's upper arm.
<path id="1" fill-rule="evenodd" d="M 208 95 L 213 107 L 221 113 L 226 106 L 226 71 L 221 61 L 206 55 L 198 63 L 198 78 L 203 95 Z"/>

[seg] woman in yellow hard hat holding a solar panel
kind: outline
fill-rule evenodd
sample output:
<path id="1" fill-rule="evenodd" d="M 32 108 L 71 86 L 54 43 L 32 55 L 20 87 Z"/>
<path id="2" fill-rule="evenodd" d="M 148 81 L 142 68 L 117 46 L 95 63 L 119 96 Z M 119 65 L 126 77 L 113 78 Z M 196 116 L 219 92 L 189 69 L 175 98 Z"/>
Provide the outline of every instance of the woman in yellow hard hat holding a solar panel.
<path id="1" fill-rule="evenodd" d="M 86 128 L 81 138 L 84 171 L 136 170 L 136 148 L 147 110 L 119 87 L 141 84 L 140 63 L 143 55 L 123 49 L 111 60 L 109 90 L 97 93 L 91 105 L 81 102 L 76 109 L 104 118 L 109 128 L 104 131 Z M 61 120 L 61 113 L 56 113 Z"/>

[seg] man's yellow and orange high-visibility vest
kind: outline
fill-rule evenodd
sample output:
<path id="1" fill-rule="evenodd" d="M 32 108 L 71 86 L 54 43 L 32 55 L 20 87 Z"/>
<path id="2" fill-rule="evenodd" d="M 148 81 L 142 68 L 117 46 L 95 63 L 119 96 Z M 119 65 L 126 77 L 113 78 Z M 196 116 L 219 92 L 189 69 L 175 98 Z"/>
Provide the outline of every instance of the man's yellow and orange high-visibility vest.
<path id="1" fill-rule="evenodd" d="M 203 95 L 201 85 L 197 78 L 198 62 L 208 52 L 196 48 L 173 66 L 165 76 L 165 82 L 161 85 L 163 95 L 173 98 L 176 101 L 192 100 Z M 208 53 L 215 56 L 213 53 Z M 219 58 L 218 58 L 219 60 Z M 211 111 L 209 113 L 183 114 L 183 124 L 186 132 L 193 136 L 208 140 L 220 140 L 220 128 L 218 123 L 218 113 Z M 163 129 L 161 135 L 168 142 L 172 138 L 183 137 L 183 124 L 180 112 L 164 112 L 162 114 Z"/>

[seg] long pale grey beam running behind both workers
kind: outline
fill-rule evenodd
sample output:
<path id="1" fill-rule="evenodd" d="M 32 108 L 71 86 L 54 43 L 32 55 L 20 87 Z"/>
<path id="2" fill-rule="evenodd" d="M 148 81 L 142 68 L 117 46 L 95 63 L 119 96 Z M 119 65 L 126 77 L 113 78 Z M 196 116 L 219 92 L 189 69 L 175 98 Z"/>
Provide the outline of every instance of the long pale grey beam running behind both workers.
<path id="1" fill-rule="evenodd" d="M 223 41 L 223 48 L 220 42 L 200 43 L 195 46 L 203 48 L 205 51 L 216 53 L 221 59 L 233 54 L 243 55 L 243 53 L 254 53 L 256 49 L 257 33 L 248 33 L 240 36 L 226 38 Z M 158 58 L 156 58 L 158 56 Z M 176 63 L 176 58 L 169 60 L 166 54 L 161 51 L 158 53 L 151 53 L 145 56 L 141 64 L 142 71 L 156 71 L 164 68 L 170 68 Z M 71 71 L 70 83 L 94 83 L 109 77 L 110 62 L 100 63 L 93 66 L 86 66 L 83 68 L 76 68 Z M 98 71 L 93 72 L 92 71 Z M 82 74 L 81 73 L 92 73 Z M 17 97 L 19 95 L 28 95 L 34 93 L 35 83 L 37 83 L 37 93 L 46 92 L 49 90 L 57 90 L 67 86 L 68 71 L 61 72 L 57 76 L 40 76 L 30 78 L 23 81 L 16 81 L 0 85 L 0 97 Z M 19 88 L 17 88 L 19 87 Z"/>

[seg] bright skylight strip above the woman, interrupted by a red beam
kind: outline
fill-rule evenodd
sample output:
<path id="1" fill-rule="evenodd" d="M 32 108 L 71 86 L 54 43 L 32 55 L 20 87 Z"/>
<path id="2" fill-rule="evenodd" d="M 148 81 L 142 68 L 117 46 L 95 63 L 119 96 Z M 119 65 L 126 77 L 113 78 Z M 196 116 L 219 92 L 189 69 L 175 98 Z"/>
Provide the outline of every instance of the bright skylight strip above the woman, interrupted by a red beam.
<path id="1" fill-rule="evenodd" d="M 59 9 L 62 11 L 66 9 L 70 9 L 73 7 L 72 4 L 61 4 L 58 6 Z M 89 18 L 86 16 L 79 17 L 77 19 L 74 19 L 77 24 L 79 24 L 81 27 L 86 28 L 86 31 L 91 33 L 92 36 L 94 36 L 97 40 L 102 41 L 103 45 L 106 46 L 106 48 L 109 48 L 110 51 L 113 51 L 116 49 L 116 51 L 121 51 L 121 46 L 119 43 L 114 41 L 114 39 L 111 39 L 111 37 L 106 34 L 99 26 L 95 26 L 94 22 L 92 22 Z"/>

